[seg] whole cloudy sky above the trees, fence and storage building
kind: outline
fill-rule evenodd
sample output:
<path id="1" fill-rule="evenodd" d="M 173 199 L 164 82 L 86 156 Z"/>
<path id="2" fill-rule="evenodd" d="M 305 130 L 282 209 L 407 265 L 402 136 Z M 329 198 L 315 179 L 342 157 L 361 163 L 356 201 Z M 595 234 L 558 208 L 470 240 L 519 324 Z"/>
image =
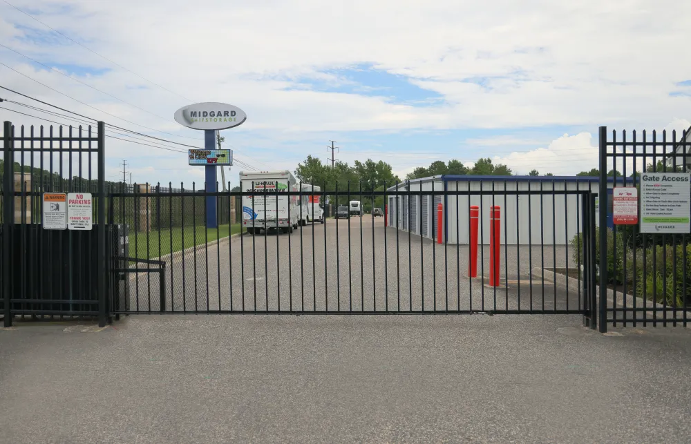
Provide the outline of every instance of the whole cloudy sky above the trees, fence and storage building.
<path id="1" fill-rule="evenodd" d="M 600 125 L 690 126 L 688 1 L 7 1 L 1 86 L 200 147 L 175 110 L 234 104 L 248 117 L 227 147 L 261 170 L 325 161 L 336 140 L 339 160 L 384 160 L 401 177 L 478 157 L 571 175 L 597 167 Z M 184 153 L 108 138 L 106 155 L 111 180 L 123 159 L 135 182 L 204 177 Z"/>

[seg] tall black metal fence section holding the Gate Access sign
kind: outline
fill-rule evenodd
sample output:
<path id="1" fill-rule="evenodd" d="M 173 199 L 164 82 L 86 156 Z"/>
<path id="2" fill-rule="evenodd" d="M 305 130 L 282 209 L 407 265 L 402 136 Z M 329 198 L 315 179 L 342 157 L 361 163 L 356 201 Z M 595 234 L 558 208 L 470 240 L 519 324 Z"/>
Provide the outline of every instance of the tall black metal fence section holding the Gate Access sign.
<path id="1" fill-rule="evenodd" d="M 599 316 L 606 320 L 600 321 L 600 331 L 607 324 L 686 326 L 691 309 L 688 133 L 608 133 L 601 126 L 599 137 L 599 195 L 607 196 L 600 202 L 607 211 L 600 211 L 596 237 Z M 617 188 L 631 196 L 618 196 Z M 635 220 L 627 215 L 621 224 L 610 220 L 618 217 L 620 202 L 626 211 L 627 198 L 634 202 L 629 208 Z"/>

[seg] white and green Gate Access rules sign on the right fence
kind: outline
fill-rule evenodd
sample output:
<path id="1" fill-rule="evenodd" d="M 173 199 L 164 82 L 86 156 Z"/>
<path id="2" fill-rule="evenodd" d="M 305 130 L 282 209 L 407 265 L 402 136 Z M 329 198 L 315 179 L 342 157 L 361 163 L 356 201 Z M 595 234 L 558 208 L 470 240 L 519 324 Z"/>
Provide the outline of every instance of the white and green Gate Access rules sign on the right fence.
<path id="1" fill-rule="evenodd" d="M 688 233 L 691 174 L 641 174 L 641 233 Z"/>

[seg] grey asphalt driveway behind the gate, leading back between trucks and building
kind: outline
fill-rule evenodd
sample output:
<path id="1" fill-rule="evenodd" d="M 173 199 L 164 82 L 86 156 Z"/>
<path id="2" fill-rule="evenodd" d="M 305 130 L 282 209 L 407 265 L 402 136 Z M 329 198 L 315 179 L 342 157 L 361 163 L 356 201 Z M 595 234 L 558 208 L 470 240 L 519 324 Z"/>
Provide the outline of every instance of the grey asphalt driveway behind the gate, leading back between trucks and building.
<path id="1" fill-rule="evenodd" d="M 534 267 L 576 267 L 567 246 L 502 246 L 501 287 L 488 288 L 489 247 L 468 278 L 468 247 L 439 245 L 369 215 L 292 235 L 243 235 L 164 257 L 166 311 L 577 310 L 581 295 L 545 290 Z M 132 311 L 160 311 L 158 274 L 128 281 Z M 507 283 L 508 282 L 508 283 Z M 526 284 L 526 285 L 522 285 Z M 509 291 L 507 291 L 509 287 Z M 546 293 L 547 291 L 547 293 Z M 123 301 L 124 302 L 124 301 Z"/>

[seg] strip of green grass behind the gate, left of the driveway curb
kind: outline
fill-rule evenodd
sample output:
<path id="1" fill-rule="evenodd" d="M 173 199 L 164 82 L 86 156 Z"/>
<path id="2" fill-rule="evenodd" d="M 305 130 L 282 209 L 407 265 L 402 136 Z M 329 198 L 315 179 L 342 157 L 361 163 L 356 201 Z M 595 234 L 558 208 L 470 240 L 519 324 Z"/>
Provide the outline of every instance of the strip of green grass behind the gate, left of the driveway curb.
<path id="1" fill-rule="evenodd" d="M 208 232 L 207 232 L 208 231 Z M 231 234 L 240 233 L 240 224 L 225 224 L 217 229 L 206 229 L 205 226 L 185 226 L 172 230 L 149 231 L 149 233 L 137 233 L 130 236 L 129 255 L 131 258 L 151 259 L 169 255 L 176 251 L 182 251 L 189 247 L 202 245 L 216 239 L 227 238 Z M 160 236 L 159 236 L 160 235 Z M 173 242 L 171 245 L 171 235 Z M 160 238 L 160 250 L 159 240 Z M 147 244 L 147 240 L 149 241 Z M 136 251 L 136 255 L 135 255 Z"/>

